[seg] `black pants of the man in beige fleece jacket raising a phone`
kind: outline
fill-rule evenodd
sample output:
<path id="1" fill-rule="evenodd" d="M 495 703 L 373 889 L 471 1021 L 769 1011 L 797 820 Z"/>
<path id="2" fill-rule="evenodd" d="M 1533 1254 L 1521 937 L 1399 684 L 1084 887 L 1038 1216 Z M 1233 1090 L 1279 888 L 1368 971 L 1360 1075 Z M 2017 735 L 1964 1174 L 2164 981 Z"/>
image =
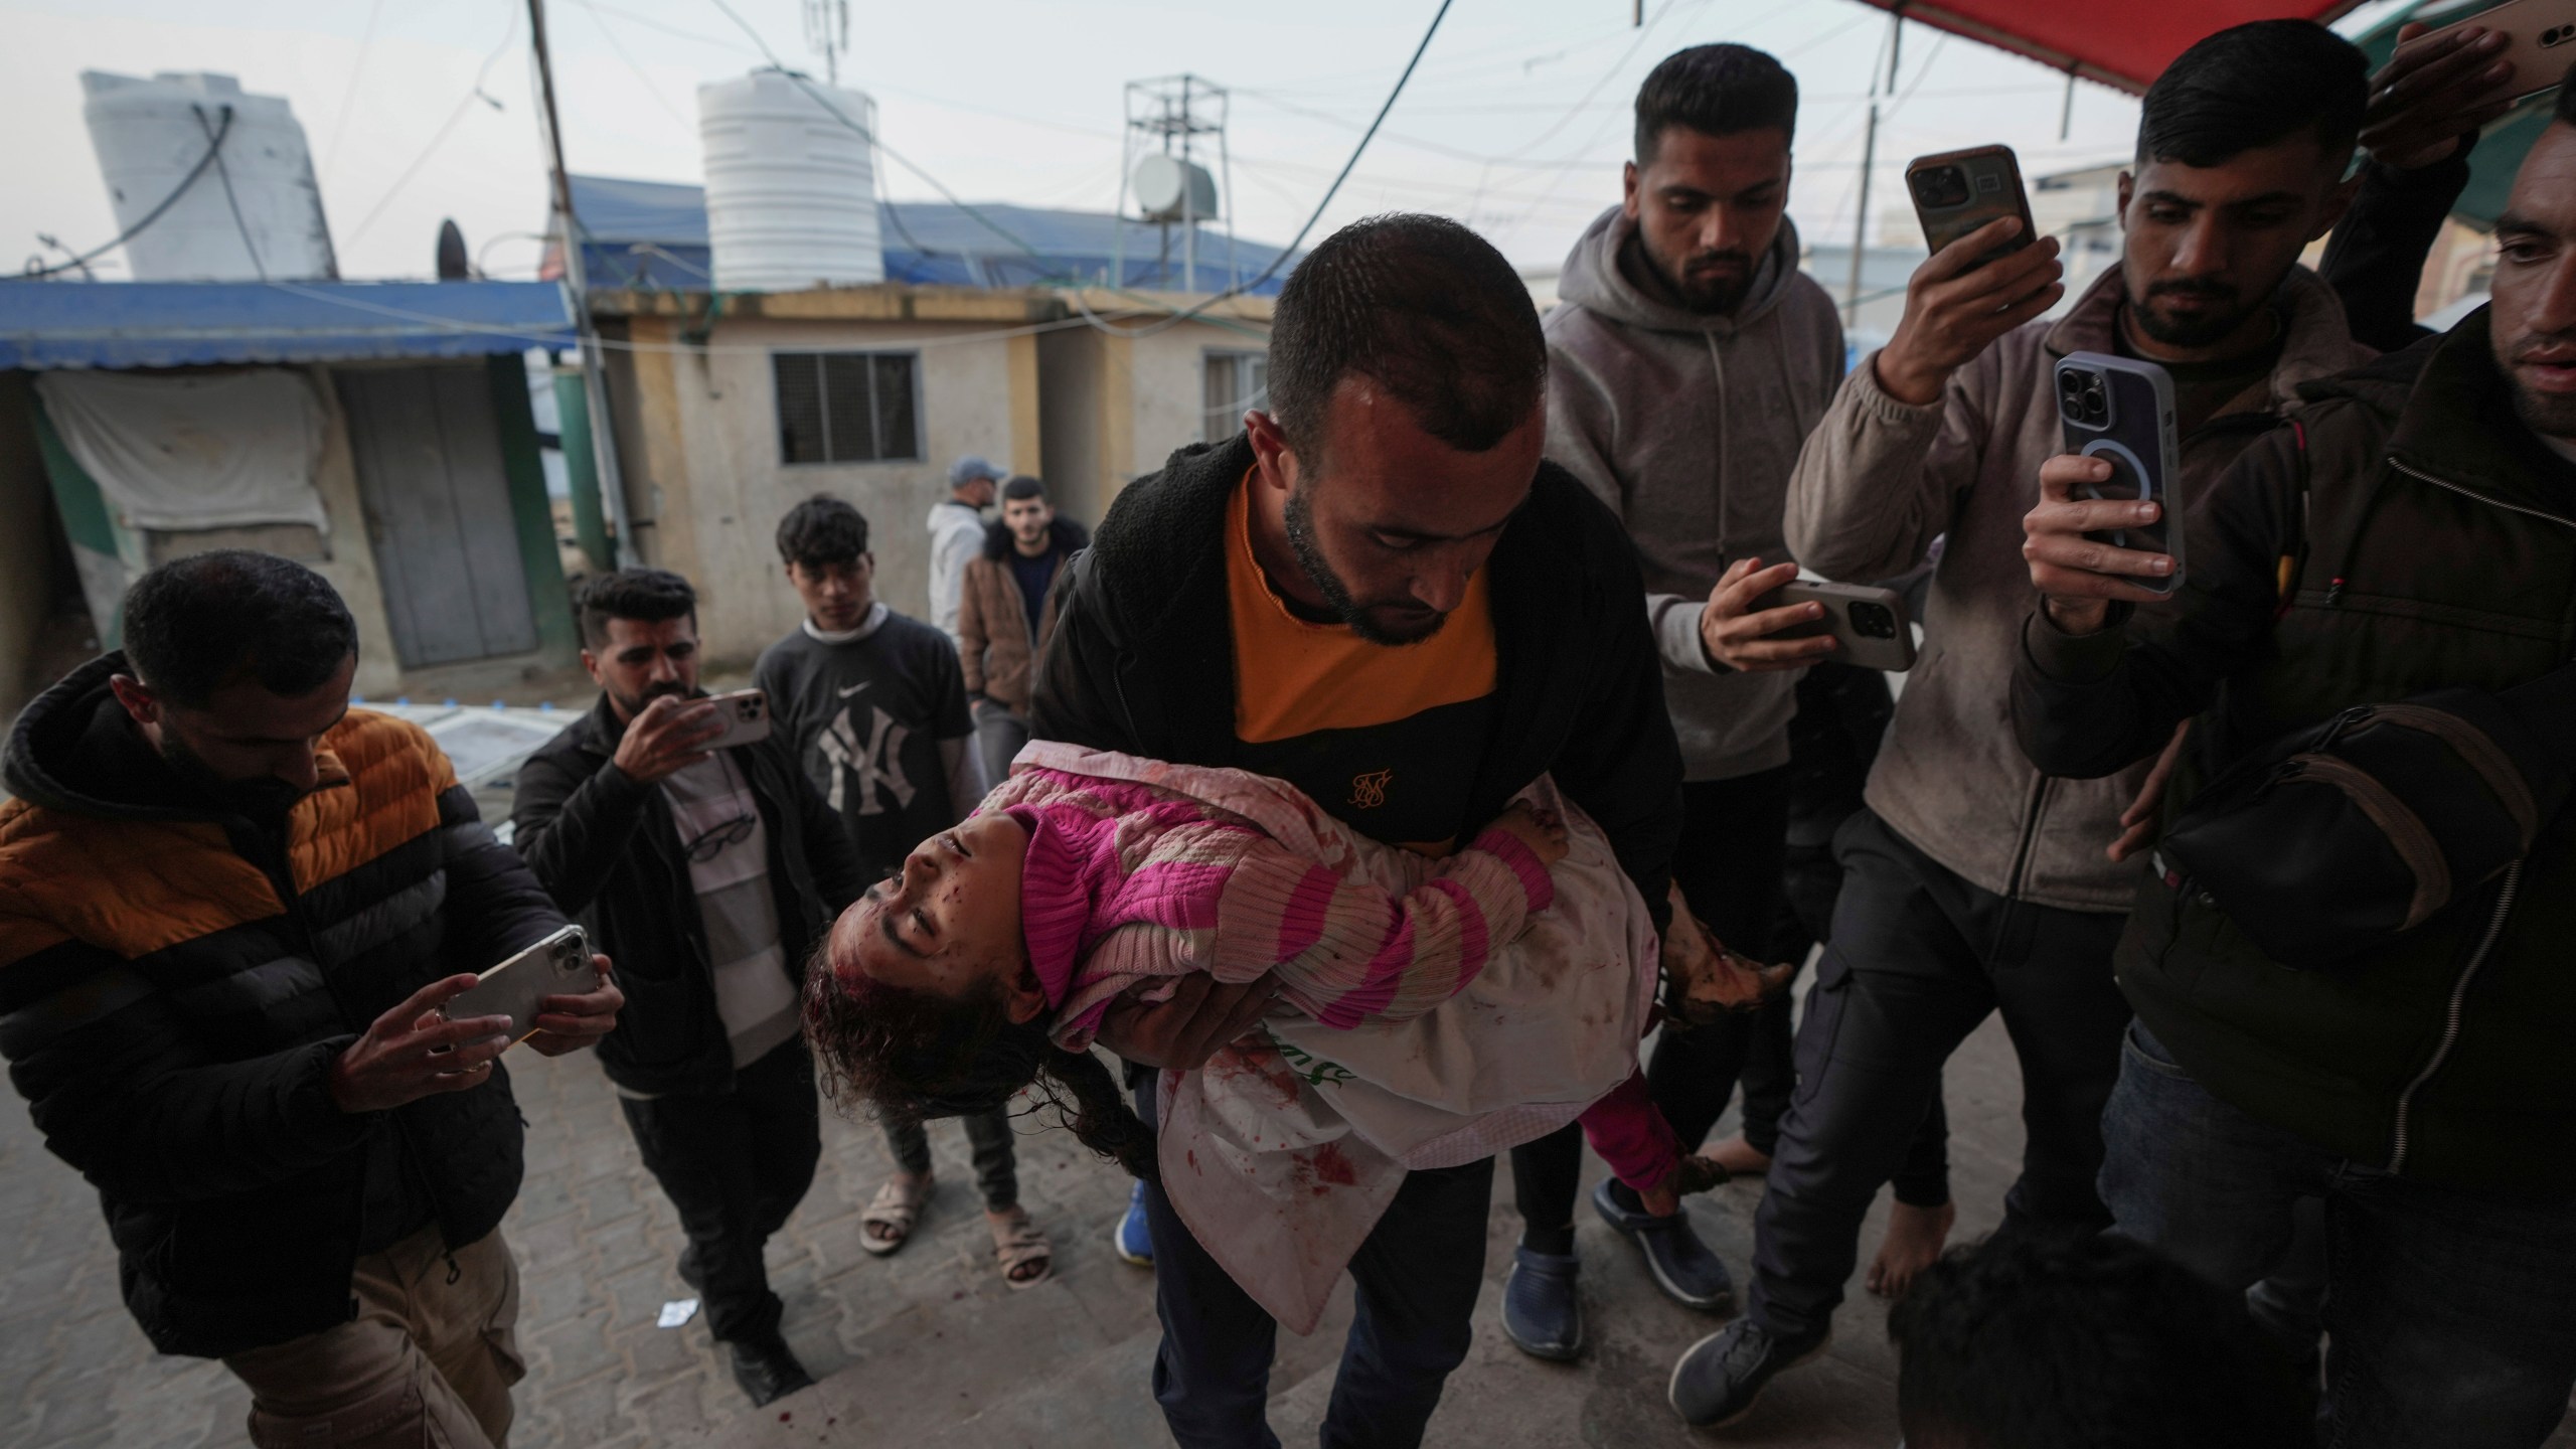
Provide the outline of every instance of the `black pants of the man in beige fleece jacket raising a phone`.
<path id="1" fill-rule="evenodd" d="M 1994 1011 L 2022 1062 L 2022 1176 L 2004 1230 L 2110 1227 L 2094 1178 L 2128 1029 L 2110 972 L 2125 918 L 1978 890 L 1870 812 L 1842 828 L 1837 856 L 1834 936 L 1754 1217 L 1749 1312 L 1783 1336 L 1832 1323 L 1870 1199 L 1904 1163 L 1942 1062 Z"/>

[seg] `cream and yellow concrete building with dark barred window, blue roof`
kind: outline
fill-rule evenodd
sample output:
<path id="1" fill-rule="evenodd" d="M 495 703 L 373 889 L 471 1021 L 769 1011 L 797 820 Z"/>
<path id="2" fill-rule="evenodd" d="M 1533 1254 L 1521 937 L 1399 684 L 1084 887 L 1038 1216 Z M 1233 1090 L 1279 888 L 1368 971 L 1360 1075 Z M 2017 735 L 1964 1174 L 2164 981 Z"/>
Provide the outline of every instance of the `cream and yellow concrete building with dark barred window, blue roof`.
<path id="1" fill-rule="evenodd" d="M 866 513 L 878 598 L 922 616 L 925 518 L 956 456 L 1038 474 L 1066 516 L 1097 523 L 1133 477 L 1265 405 L 1288 266 L 1224 302 L 1157 291 L 1177 253 L 1151 224 L 889 204 L 889 281 L 752 294 L 711 291 L 696 186 L 574 178 L 574 206 L 608 340 L 621 559 L 690 578 L 719 668 L 801 619 L 773 544 L 801 498 Z M 1203 235 L 1198 258 L 1203 281 L 1249 284 L 1275 250 L 1242 242 L 1226 260 L 1224 237 Z"/>

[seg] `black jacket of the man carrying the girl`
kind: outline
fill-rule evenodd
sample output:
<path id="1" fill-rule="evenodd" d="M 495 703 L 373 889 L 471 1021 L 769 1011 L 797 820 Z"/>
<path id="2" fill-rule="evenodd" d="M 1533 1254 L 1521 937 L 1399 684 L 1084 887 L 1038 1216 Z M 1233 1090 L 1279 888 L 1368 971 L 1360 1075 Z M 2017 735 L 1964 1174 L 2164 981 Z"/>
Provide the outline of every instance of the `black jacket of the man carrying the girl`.
<path id="1" fill-rule="evenodd" d="M 1200 443 L 1118 495 L 1066 565 L 1056 634 L 1038 660 L 1030 732 L 1095 750 L 1234 766 L 1234 632 L 1226 503 L 1252 443 Z M 1553 773 L 1610 835 L 1656 926 L 1682 830 L 1682 750 L 1638 598 L 1636 547 L 1556 464 L 1494 544 L 1494 724 L 1466 833 Z M 1324 802 L 1327 807 L 1332 802 Z"/>

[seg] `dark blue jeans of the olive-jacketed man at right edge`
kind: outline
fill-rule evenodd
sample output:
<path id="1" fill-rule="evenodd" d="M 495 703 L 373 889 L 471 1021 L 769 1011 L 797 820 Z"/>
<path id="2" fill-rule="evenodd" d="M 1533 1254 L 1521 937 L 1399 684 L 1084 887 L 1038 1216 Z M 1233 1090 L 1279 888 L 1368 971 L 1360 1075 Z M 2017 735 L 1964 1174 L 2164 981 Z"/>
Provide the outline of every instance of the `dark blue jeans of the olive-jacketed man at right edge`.
<path id="1" fill-rule="evenodd" d="M 2326 1204 L 2326 1449 L 2532 1449 L 2576 1387 L 2576 1201 L 2393 1178 L 2218 1101 L 2130 1026 L 2102 1114 L 2115 1232 L 2244 1292 Z"/>

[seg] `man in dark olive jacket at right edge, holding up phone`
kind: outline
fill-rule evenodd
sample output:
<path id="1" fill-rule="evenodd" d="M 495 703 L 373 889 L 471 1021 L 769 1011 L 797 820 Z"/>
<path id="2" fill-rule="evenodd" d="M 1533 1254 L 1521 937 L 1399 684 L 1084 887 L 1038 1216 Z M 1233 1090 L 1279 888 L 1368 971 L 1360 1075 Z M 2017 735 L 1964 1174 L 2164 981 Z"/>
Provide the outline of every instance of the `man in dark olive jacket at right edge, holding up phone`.
<path id="1" fill-rule="evenodd" d="M 2537 732 L 2576 753 L 2576 90 L 2496 242 L 2491 307 L 2308 387 L 2303 428 L 2197 505 L 2172 619 L 2115 603 L 2161 554 L 2081 536 L 2136 505 L 2071 503 L 2094 464 L 2050 459 L 2014 670 L 2040 768 L 2099 776 L 2202 709 L 2226 766 L 2354 704 L 2543 676 Z M 2138 1008 L 2105 1116 L 2117 1230 L 2246 1287 L 2293 1199 L 2324 1196 L 2331 1444 L 2524 1449 L 2576 1385 L 2576 812 L 2455 890 L 2298 972 L 2159 866 L 2117 951 Z"/>

